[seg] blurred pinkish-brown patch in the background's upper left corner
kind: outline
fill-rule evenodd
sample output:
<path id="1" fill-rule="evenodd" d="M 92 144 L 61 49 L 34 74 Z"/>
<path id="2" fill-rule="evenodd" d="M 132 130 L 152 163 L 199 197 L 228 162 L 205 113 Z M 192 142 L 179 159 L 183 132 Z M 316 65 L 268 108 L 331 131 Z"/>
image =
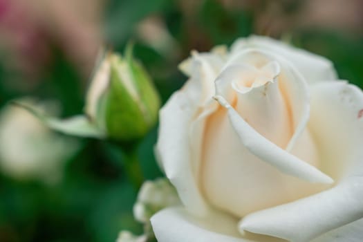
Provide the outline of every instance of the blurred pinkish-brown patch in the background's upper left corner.
<path id="1" fill-rule="evenodd" d="M 6 65 L 35 84 L 56 44 L 88 77 L 101 44 L 100 0 L 0 0 L 0 51 Z M 86 79 L 86 78 L 84 78 Z M 32 81 L 31 81 L 32 80 Z"/>

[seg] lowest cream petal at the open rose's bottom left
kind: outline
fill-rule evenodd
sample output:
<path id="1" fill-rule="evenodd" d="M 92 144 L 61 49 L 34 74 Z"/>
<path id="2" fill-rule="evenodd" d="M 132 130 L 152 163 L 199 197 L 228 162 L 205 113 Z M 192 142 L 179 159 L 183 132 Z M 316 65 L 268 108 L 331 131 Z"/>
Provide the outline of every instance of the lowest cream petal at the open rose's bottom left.
<path id="1" fill-rule="evenodd" d="M 181 207 L 171 207 L 151 218 L 159 242 L 245 242 L 236 230 L 237 221 L 219 214 L 196 218 Z"/>

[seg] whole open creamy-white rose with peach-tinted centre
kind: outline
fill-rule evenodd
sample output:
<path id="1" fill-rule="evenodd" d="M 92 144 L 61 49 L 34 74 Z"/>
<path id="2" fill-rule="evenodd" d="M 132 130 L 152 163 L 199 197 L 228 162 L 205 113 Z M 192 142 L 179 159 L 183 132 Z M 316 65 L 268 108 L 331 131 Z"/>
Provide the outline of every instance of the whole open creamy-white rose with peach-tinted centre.
<path id="1" fill-rule="evenodd" d="M 184 206 L 151 218 L 158 241 L 361 241 L 362 91 L 267 37 L 221 50 L 183 62 L 160 113 L 157 154 Z"/>

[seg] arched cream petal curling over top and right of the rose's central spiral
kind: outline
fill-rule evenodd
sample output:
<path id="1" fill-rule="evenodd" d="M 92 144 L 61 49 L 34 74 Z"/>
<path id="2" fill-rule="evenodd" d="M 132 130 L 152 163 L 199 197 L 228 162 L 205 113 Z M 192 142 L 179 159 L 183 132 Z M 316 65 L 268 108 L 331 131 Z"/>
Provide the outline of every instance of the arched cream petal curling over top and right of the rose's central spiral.
<path id="1" fill-rule="evenodd" d="M 216 95 L 222 95 L 228 102 L 232 100 L 231 91 L 227 89 L 228 84 L 230 84 L 229 77 L 232 73 L 236 73 L 236 71 L 230 71 L 230 66 L 236 66 L 237 64 L 259 66 L 262 70 L 268 71 L 270 77 L 275 77 L 279 81 L 279 89 L 285 103 L 288 105 L 287 109 L 291 118 L 290 129 L 292 129 L 292 136 L 285 147 L 287 151 L 290 151 L 303 133 L 309 118 L 308 86 L 304 77 L 290 62 L 280 55 L 276 55 L 276 53 L 271 53 L 270 50 L 245 48 L 241 52 L 231 55 L 227 64 L 223 67 L 221 75 L 215 81 Z M 246 68 L 243 69 L 247 70 Z M 276 77 L 277 73 L 279 75 Z M 247 91 L 244 93 L 247 93 Z"/>

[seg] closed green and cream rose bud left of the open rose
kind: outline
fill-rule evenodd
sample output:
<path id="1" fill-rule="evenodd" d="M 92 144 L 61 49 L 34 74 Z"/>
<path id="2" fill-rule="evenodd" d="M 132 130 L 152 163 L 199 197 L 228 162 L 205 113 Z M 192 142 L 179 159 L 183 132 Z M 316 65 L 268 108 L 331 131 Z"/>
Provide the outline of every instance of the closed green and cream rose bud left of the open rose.
<path id="1" fill-rule="evenodd" d="M 145 136 L 158 119 L 160 99 L 151 78 L 131 51 L 107 53 L 93 77 L 86 114 L 106 136 L 133 140 Z"/>

